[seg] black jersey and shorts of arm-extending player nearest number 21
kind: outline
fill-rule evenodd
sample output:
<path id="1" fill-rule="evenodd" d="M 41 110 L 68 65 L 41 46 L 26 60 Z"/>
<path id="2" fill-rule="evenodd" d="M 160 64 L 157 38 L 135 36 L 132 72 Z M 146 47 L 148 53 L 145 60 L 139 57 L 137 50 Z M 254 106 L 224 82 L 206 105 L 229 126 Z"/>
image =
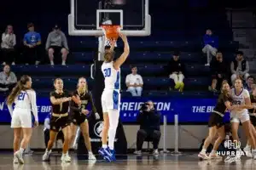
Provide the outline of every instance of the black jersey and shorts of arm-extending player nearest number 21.
<path id="1" fill-rule="evenodd" d="M 55 97 L 55 99 L 69 98 L 71 97 L 67 91 L 63 91 L 62 94 L 57 94 L 55 91 L 51 92 L 50 97 Z M 59 132 L 62 128 L 70 125 L 70 119 L 68 116 L 69 101 L 61 103 L 61 105 L 51 105 L 52 106 L 52 116 L 50 117 L 49 127 L 50 130 Z M 54 116 L 58 114 L 58 116 Z"/>

